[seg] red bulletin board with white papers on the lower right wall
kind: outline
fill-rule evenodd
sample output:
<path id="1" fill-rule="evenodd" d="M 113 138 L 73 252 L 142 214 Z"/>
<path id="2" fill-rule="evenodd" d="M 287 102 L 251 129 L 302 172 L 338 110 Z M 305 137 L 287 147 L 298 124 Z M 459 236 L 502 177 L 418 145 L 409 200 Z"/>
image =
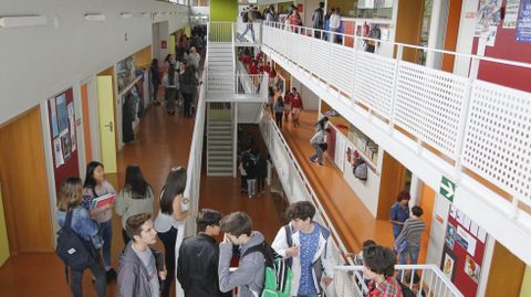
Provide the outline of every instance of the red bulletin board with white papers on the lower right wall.
<path id="1" fill-rule="evenodd" d="M 476 297 L 487 233 L 450 204 L 440 268 L 465 297 Z"/>

